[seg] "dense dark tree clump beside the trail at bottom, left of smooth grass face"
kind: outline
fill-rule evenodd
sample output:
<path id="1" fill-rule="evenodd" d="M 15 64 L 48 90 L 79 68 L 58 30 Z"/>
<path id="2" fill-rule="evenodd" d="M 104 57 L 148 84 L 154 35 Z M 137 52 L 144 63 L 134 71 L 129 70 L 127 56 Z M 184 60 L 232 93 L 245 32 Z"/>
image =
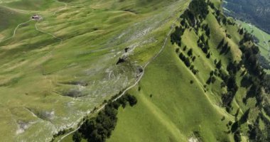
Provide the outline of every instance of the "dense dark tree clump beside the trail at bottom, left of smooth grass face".
<path id="1" fill-rule="evenodd" d="M 80 142 L 82 138 L 89 142 L 104 142 L 109 138 L 117 124 L 117 110 L 129 103 L 133 107 L 137 103 L 136 97 L 125 94 L 117 101 L 110 100 L 97 116 L 84 121 L 80 129 L 73 135 L 73 141 Z"/>

